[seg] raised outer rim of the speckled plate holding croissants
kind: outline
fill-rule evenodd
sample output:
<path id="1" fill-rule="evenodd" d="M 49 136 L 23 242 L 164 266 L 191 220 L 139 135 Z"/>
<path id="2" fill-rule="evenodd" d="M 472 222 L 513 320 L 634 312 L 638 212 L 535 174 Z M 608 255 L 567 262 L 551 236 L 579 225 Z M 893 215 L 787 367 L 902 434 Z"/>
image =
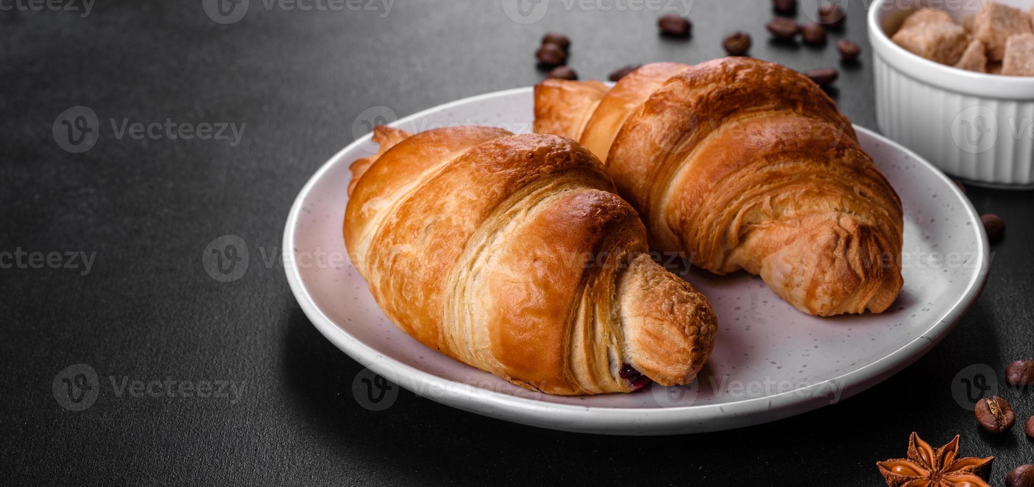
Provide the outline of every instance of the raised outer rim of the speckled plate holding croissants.
<path id="1" fill-rule="evenodd" d="M 516 88 L 463 98 L 405 117 L 392 125 L 404 125 L 413 120 L 426 118 L 434 112 L 449 110 L 461 104 L 484 102 L 496 97 L 525 94 L 531 90 L 531 87 Z M 894 150 L 905 154 L 907 160 L 934 173 L 940 179 L 943 189 L 959 200 L 963 208 L 968 212 L 968 218 L 976 227 L 979 227 L 980 218 L 976 210 L 947 176 L 925 159 L 900 144 L 863 127 L 857 125 L 854 127 L 859 135 L 873 138 L 881 144 L 890 146 Z M 295 257 L 295 232 L 299 225 L 299 218 L 304 202 L 309 196 L 312 188 L 331 168 L 339 163 L 352 163 L 351 160 L 342 160 L 344 155 L 358 146 L 369 142 L 371 134 L 360 138 L 331 157 L 330 160 L 316 171 L 302 188 L 301 192 L 299 192 L 298 197 L 291 208 L 284 226 L 284 258 Z M 308 316 L 320 333 L 360 364 L 418 395 L 419 391 L 436 391 L 435 394 L 426 395 L 425 397 L 459 409 L 530 426 L 583 433 L 656 435 L 733 429 L 787 418 L 829 404 L 828 398 L 820 394 L 823 388 L 827 387 L 829 383 L 839 382 L 843 385 L 844 394 L 842 399 L 844 399 L 879 384 L 908 365 L 911 365 L 932 349 L 951 331 L 979 295 L 986 279 L 990 262 L 987 258 L 989 243 L 986 236 L 982 236 L 977 242 L 979 246 L 977 255 L 979 264 L 975 268 L 978 270 L 972 274 L 962 297 L 950 306 L 946 306 L 944 312 L 925 332 L 882 359 L 858 367 L 838 377 L 782 394 L 749 398 L 723 404 L 700 404 L 662 408 L 559 404 L 516 397 L 468 384 L 449 381 L 425 372 L 392 357 L 381 354 L 338 327 L 334 321 L 320 309 L 305 288 L 302 283 L 300 269 L 297 266 L 284 266 L 284 268 L 291 291 L 294 293 L 305 315 Z"/>

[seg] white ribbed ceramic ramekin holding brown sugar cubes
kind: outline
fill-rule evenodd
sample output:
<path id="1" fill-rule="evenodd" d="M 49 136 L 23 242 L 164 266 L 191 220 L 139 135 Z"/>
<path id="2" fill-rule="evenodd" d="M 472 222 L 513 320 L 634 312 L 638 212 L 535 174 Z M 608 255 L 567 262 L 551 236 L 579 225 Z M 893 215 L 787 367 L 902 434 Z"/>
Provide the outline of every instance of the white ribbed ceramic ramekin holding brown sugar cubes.
<path id="1" fill-rule="evenodd" d="M 998 0 L 1028 11 L 1032 0 Z M 880 131 L 945 173 L 977 185 L 1034 187 L 1034 78 L 956 69 L 890 40 L 916 8 L 956 22 L 980 1 L 877 0 L 869 9 Z"/>

